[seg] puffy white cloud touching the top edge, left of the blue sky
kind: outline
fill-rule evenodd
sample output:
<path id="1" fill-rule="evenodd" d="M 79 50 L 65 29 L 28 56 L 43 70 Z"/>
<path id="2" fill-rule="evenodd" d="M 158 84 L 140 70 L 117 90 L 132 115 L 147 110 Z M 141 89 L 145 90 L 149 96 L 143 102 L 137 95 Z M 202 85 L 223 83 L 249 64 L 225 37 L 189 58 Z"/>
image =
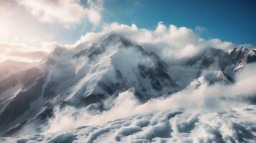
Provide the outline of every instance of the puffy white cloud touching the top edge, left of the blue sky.
<path id="1" fill-rule="evenodd" d="M 88 6 L 80 4 L 79 0 L 22 0 L 19 4 L 37 16 L 40 21 L 58 21 L 65 26 L 79 24 L 85 18 L 92 24 L 98 25 L 101 21 L 103 1 L 88 0 Z"/>

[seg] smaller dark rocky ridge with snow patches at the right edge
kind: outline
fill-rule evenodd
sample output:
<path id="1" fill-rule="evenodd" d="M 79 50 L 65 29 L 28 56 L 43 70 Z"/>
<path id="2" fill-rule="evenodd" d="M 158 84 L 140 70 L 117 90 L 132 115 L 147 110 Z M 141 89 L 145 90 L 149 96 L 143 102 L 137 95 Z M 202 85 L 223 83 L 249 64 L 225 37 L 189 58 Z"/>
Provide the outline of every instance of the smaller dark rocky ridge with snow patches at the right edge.
<path id="1" fill-rule="evenodd" d="M 255 49 L 237 46 L 229 51 L 214 48 L 205 49 L 197 56 L 189 59 L 186 65 L 198 69 L 219 69 L 233 74 L 233 71 L 255 61 Z"/>

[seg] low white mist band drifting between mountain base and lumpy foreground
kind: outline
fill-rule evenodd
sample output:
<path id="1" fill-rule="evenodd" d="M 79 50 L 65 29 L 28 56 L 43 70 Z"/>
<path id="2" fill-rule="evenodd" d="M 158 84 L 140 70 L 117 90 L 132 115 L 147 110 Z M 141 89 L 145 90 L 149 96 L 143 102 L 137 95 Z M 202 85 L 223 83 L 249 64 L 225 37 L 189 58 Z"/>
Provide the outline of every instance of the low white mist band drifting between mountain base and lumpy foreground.
<path id="1" fill-rule="evenodd" d="M 111 99 L 112 101 L 115 100 L 111 109 L 99 114 L 90 114 L 84 108 L 57 109 L 55 110 L 55 117 L 50 120 L 47 132 L 63 132 L 81 126 L 105 124 L 116 119 L 153 112 L 183 111 L 186 109 L 221 112 L 244 107 L 244 105 L 250 105 L 250 102 L 243 100 L 243 98 L 255 96 L 256 93 L 256 85 L 251 84 L 256 80 L 255 70 L 255 64 L 247 65 L 244 70 L 237 74 L 235 84 L 209 86 L 208 83 L 203 83 L 198 88 L 188 87 L 167 98 L 151 99 L 146 103 L 140 103 L 132 91 L 122 92 L 116 99 Z M 74 114 L 76 114 L 75 117 Z"/>

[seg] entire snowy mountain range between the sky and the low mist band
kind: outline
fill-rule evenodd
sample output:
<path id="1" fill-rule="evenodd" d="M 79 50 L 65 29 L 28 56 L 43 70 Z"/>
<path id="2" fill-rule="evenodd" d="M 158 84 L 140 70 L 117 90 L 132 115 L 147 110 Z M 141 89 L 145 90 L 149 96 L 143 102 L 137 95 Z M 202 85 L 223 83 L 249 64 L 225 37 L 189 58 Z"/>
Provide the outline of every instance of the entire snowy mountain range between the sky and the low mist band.
<path id="1" fill-rule="evenodd" d="M 14 135 L 29 124 L 38 124 L 32 132 L 42 132 L 57 107 L 101 112 L 127 90 L 143 103 L 178 92 L 200 77 L 209 84 L 232 84 L 235 71 L 255 61 L 254 49 L 209 48 L 186 64 L 171 66 L 118 34 L 73 49 L 56 47 L 38 66 L 0 81 L 0 134 Z"/>

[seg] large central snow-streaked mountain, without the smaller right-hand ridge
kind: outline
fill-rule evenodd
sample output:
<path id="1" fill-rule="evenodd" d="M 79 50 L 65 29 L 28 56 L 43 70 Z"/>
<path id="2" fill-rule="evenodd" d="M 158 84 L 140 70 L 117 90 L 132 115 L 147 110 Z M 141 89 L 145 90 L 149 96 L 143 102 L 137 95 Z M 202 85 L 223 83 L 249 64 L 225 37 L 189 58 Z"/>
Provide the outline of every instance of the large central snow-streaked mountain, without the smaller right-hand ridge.
<path id="1" fill-rule="evenodd" d="M 86 47 L 57 47 L 39 66 L 3 79 L 0 91 L 17 85 L 19 93 L 10 94 L 12 100 L 2 105 L 1 134 L 12 134 L 35 120 L 41 122 L 55 107 L 91 106 L 101 111 L 114 104 L 109 99 L 127 89 L 133 89 L 140 102 L 180 89 L 159 56 L 116 34 L 102 36 Z"/>

